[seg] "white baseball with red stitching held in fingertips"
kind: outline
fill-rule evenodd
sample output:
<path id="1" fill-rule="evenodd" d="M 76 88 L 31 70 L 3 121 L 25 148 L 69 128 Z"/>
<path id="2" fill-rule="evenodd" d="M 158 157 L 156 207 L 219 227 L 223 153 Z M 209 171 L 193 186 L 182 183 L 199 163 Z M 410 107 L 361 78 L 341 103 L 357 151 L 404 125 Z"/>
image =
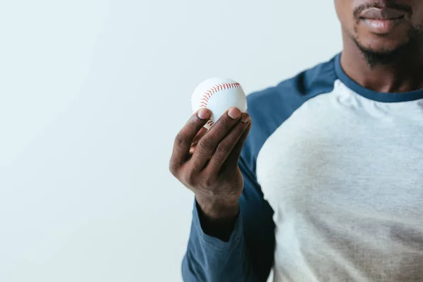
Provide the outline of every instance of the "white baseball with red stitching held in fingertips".
<path id="1" fill-rule="evenodd" d="M 247 97 L 243 87 L 238 82 L 228 78 L 210 78 L 204 80 L 195 88 L 191 98 L 192 112 L 201 108 L 212 111 L 212 117 L 204 125 L 211 128 L 225 112 L 236 107 L 241 112 L 247 111 Z"/>

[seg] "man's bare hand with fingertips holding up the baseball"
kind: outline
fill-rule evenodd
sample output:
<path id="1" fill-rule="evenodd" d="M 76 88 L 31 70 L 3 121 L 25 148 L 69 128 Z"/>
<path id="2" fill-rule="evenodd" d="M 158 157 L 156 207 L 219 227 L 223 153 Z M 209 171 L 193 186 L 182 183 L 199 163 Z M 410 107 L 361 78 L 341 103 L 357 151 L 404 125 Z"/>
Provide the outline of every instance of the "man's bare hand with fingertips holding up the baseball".
<path id="1" fill-rule="evenodd" d="M 207 131 L 203 126 L 210 116 L 208 109 L 200 109 L 180 130 L 169 168 L 195 193 L 209 219 L 233 218 L 238 214 L 238 198 L 244 186 L 238 159 L 250 132 L 251 119 L 231 108 Z"/>

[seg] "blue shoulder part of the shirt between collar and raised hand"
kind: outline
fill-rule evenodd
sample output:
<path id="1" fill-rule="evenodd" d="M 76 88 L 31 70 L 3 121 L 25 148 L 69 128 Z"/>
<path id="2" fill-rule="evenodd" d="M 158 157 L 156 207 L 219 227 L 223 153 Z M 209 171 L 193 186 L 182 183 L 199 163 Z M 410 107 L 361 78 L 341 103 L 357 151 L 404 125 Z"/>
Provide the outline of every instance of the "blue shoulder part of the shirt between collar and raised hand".
<path id="1" fill-rule="evenodd" d="M 243 148 L 244 161 L 255 171 L 255 159 L 266 139 L 307 100 L 333 90 L 334 58 L 247 96 L 252 128 Z"/>

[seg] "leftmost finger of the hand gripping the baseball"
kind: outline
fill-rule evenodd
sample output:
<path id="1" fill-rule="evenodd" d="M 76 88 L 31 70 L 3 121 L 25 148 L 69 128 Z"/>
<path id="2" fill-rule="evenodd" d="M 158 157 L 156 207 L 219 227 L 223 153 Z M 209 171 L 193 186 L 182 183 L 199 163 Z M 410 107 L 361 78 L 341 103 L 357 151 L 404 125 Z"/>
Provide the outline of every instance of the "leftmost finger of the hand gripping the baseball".
<path id="1" fill-rule="evenodd" d="M 197 133 L 209 121 L 210 116 L 212 116 L 212 112 L 209 109 L 200 109 L 200 111 L 197 111 L 196 114 L 191 116 L 182 130 L 176 135 L 169 164 L 169 169 L 173 175 L 176 174 L 178 168 L 184 163 L 190 152 L 192 140 L 194 140 Z"/>

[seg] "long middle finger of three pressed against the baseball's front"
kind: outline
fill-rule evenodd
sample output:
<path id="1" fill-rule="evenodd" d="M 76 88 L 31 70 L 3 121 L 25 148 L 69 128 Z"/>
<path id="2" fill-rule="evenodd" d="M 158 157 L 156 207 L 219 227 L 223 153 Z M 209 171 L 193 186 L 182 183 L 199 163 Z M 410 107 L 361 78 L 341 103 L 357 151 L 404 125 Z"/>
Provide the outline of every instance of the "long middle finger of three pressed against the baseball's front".
<path id="1" fill-rule="evenodd" d="M 195 152 L 191 158 L 191 168 L 195 171 L 201 171 L 209 158 L 218 147 L 223 138 L 238 123 L 241 112 L 239 109 L 231 108 L 226 114 L 223 114 L 212 128 L 198 142 Z"/>

